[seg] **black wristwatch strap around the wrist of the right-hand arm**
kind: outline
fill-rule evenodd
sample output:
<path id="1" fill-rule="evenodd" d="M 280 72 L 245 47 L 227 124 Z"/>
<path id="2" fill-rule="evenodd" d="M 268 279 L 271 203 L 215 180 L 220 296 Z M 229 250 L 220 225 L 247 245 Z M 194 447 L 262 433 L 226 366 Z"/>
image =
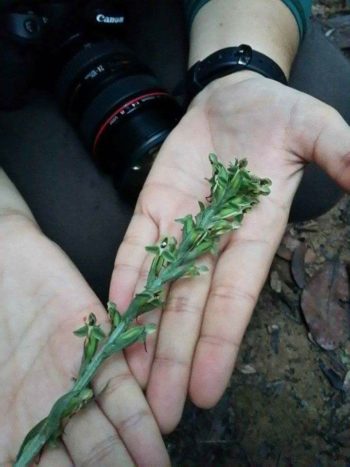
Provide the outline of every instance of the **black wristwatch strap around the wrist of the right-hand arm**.
<path id="1" fill-rule="evenodd" d="M 195 63 L 187 72 L 187 102 L 190 102 L 207 84 L 222 76 L 241 70 L 252 70 L 266 78 L 288 84 L 282 69 L 271 58 L 253 50 L 249 45 L 227 47 Z"/>

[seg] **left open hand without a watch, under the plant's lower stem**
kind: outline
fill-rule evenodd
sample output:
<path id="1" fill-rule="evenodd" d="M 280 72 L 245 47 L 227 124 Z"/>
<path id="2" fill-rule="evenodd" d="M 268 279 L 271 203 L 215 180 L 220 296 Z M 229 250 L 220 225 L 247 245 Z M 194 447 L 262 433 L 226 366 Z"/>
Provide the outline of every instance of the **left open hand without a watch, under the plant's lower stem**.
<path id="1" fill-rule="evenodd" d="M 0 465 L 10 466 L 28 430 L 73 385 L 82 353 L 73 330 L 90 312 L 107 320 L 79 272 L 23 205 L 7 208 L 13 188 L 1 171 L 0 186 Z M 63 442 L 45 450 L 39 465 L 169 465 L 122 356 L 105 363 L 94 391 L 96 400 L 69 421 Z"/>

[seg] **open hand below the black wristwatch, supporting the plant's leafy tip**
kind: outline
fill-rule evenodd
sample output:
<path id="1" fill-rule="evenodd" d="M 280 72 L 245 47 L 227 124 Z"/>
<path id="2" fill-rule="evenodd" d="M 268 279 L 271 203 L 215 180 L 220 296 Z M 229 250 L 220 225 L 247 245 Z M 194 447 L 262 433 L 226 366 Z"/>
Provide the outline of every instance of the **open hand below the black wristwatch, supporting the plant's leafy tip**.
<path id="1" fill-rule="evenodd" d="M 334 109 L 253 72 L 214 81 L 164 143 L 140 194 L 110 288 L 121 310 L 144 284 L 145 245 L 178 236 L 174 219 L 196 212 L 208 195 L 210 152 L 224 163 L 246 157 L 253 173 L 272 180 L 272 191 L 226 237 L 217 258 L 201 261 L 208 273 L 179 280 L 163 312 L 144 316 L 159 322 L 147 352 L 140 345 L 126 350 L 163 432 L 178 423 L 187 391 L 209 408 L 225 390 L 304 165 L 314 161 L 350 188 L 350 130 Z"/>

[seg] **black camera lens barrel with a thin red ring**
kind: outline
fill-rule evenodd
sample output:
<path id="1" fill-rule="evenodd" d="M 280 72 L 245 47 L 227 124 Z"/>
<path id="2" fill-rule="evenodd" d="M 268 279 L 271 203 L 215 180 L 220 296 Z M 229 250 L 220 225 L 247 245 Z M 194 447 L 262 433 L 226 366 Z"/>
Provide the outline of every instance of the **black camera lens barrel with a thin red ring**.
<path id="1" fill-rule="evenodd" d="M 85 44 L 64 66 L 57 93 L 94 160 L 136 195 L 181 117 L 175 98 L 115 40 Z"/>

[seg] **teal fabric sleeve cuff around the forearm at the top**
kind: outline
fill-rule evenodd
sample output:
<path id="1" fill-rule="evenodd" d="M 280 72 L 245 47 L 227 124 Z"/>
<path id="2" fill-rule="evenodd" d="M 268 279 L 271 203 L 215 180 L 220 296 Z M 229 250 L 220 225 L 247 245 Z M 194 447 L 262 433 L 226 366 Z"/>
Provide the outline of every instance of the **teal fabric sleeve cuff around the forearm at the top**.
<path id="1" fill-rule="evenodd" d="M 183 0 L 188 28 L 191 28 L 194 17 L 198 11 L 210 0 Z M 300 37 L 303 38 L 311 16 L 312 0 L 282 0 L 290 9 L 297 22 Z"/>

